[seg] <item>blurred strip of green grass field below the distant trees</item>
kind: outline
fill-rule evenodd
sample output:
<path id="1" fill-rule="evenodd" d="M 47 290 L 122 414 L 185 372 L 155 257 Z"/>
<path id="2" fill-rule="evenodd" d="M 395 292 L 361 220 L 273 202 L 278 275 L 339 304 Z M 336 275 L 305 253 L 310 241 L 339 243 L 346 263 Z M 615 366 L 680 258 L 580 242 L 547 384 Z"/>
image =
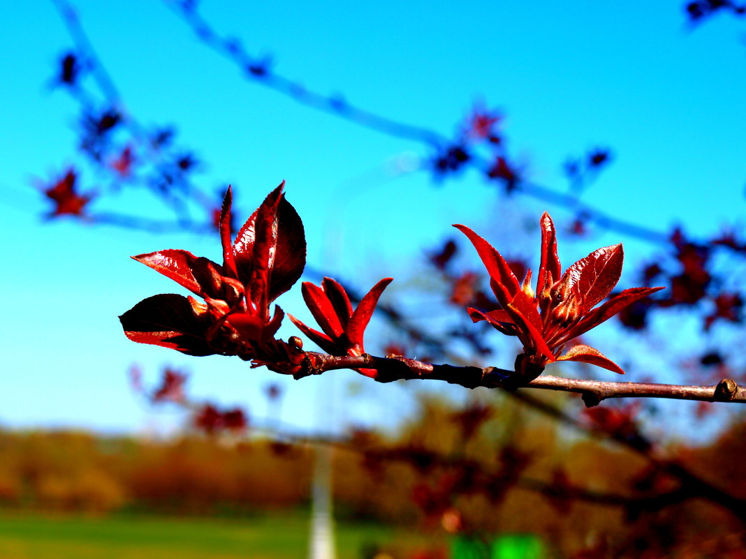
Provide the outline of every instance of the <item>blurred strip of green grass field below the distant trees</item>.
<path id="1" fill-rule="evenodd" d="M 2 559 L 297 559 L 307 555 L 307 514 L 252 519 L 43 516 L 0 513 Z M 340 522 L 339 559 L 366 543 L 388 543 L 392 528 Z"/>

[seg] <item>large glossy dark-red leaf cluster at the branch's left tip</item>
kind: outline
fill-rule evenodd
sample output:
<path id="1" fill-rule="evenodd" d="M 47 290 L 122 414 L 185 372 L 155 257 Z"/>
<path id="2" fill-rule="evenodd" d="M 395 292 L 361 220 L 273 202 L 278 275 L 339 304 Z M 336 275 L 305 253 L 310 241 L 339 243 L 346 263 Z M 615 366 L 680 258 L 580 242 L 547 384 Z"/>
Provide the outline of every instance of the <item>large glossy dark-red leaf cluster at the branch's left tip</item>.
<path id="1" fill-rule="evenodd" d="M 134 256 L 189 289 L 202 301 L 178 294 L 142 300 L 120 317 L 132 341 L 154 344 L 192 356 L 235 355 L 294 373 L 302 355 L 275 340 L 283 311 L 270 304 L 301 277 L 306 241 L 301 218 L 273 190 L 231 240 L 231 189 L 220 218 L 223 262 L 186 250 L 159 250 Z"/>

